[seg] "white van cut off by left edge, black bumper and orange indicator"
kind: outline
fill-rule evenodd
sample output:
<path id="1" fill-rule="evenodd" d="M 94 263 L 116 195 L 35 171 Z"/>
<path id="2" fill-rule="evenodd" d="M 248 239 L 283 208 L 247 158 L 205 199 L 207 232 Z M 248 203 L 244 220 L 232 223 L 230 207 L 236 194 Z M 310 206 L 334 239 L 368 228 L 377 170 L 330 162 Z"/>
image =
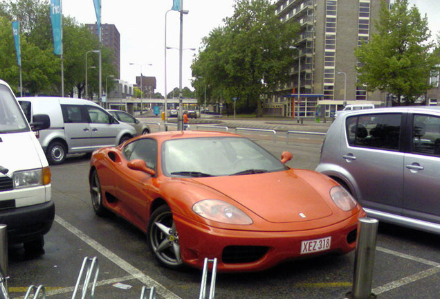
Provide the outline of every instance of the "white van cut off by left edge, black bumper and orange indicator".
<path id="1" fill-rule="evenodd" d="M 51 170 L 35 133 L 46 129 L 47 115 L 28 123 L 9 85 L 0 80 L 0 222 L 8 242 L 43 253 L 44 235 L 55 217 Z"/>

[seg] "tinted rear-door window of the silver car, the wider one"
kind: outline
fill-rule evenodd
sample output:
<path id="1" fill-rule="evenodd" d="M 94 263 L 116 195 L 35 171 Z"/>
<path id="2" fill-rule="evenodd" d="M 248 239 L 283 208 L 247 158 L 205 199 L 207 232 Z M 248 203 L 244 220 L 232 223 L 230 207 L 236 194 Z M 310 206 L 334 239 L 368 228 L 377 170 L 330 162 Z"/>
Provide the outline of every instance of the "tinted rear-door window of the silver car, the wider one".
<path id="1" fill-rule="evenodd" d="M 348 143 L 354 147 L 398 150 L 401 114 L 363 114 L 347 118 Z"/>

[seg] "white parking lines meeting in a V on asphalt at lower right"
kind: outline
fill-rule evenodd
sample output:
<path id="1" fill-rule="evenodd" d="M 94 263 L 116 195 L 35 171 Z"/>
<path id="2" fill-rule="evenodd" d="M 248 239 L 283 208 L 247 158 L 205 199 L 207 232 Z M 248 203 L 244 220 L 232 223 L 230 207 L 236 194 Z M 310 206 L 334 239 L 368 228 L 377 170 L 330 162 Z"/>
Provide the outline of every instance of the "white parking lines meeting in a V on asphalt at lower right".
<path id="1" fill-rule="evenodd" d="M 421 264 L 427 264 L 430 266 L 434 266 L 433 268 L 421 271 L 419 273 L 415 273 L 413 275 L 407 276 L 405 278 L 401 278 L 399 280 L 394 280 L 394 282 L 389 282 L 387 284 L 384 284 L 381 287 L 376 287 L 376 288 L 372 289 L 372 293 L 374 293 L 376 295 L 379 295 L 381 293 L 385 293 L 387 291 L 391 291 L 392 289 L 397 289 L 398 287 L 402 287 L 405 284 L 409 284 L 411 282 L 415 282 L 417 280 L 427 278 L 431 275 L 435 275 L 440 272 L 440 264 L 437 262 L 425 260 L 423 258 L 415 257 L 413 255 L 407 255 L 406 253 L 399 253 L 398 251 L 392 251 L 390 249 L 383 248 L 383 247 L 376 247 L 376 250 L 381 251 L 383 253 L 390 254 L 390 255 L 395 255 L 397 257 L 405 258 L 407 260 L 412 260 L 413 262 L 419 262 Z"/>

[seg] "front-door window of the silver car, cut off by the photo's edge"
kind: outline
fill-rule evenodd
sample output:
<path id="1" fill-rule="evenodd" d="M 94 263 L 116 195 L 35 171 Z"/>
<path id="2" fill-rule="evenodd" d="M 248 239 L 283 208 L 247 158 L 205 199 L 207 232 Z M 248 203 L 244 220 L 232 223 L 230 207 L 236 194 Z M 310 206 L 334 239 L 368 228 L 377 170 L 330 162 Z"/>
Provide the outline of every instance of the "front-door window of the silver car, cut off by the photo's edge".
<path id="1" fill-rule="evenodd" d="M 412 122 L 412 153 L 440 156 L 440 117 L 414 115 Z"/>

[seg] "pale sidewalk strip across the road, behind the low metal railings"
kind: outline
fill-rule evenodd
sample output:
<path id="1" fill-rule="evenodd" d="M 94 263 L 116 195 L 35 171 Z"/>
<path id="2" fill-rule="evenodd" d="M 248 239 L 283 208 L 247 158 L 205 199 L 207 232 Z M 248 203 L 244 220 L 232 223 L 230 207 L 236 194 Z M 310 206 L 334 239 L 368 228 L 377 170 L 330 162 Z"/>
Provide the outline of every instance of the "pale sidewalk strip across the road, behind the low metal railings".
<path id="1" fill-rule="evenodd" d="M 150 123 L 161 123 L 163 125 L 164 121 L 160 117 L 150 116 L 147 118 L 140 118 L 144 122 Z M 176 123 L 176 118 L 168 118 L 168 123 Z M 218 117 L 208 117 L 208 118 L 190 118 L 188 124 L 190 126 L 196 125 L 218 125 L 229 128 L 250 128 L 250 129 L 273 129 L 278 132 L 287 131 L 302 131 L 302 132 L 320 132 L 326 133 L 331 125 L 331 120 L 327 120 L 326 123 L 317 123 L 314 118 L 303 118 L 303 122 L 300 123 L 296 119 L 291 118 L 218 118 Z"/>

